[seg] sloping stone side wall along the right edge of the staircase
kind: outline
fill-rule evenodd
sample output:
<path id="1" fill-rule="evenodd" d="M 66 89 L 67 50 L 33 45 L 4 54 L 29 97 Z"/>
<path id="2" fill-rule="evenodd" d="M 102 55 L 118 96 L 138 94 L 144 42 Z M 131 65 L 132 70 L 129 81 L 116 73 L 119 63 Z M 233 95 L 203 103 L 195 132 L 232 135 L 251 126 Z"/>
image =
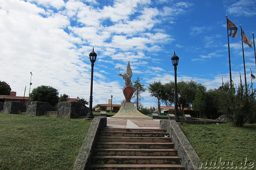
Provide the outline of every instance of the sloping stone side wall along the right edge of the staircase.
<path id="1" fill-rule="evenodd" d="M 175 149 L 178 151 L 178 156 L 181 158 L 181 163 L 186 170 L 198 170 L 199 157 L 194 151 L 187 137 L 176 121 L 160 120 L 160 128 L 166 129 L 172 138 Z"/>

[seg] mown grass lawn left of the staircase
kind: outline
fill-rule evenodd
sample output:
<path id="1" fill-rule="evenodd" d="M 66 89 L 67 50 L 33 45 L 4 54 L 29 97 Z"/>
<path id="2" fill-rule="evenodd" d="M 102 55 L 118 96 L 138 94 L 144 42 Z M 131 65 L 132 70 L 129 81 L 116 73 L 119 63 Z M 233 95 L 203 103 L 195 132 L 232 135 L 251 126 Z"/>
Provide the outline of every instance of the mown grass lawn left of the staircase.
<path id="1" fill-rule="evenodd" d="M 0 113 L 0 169 L 72 169 L 90 125 L 84 119 Z"/>

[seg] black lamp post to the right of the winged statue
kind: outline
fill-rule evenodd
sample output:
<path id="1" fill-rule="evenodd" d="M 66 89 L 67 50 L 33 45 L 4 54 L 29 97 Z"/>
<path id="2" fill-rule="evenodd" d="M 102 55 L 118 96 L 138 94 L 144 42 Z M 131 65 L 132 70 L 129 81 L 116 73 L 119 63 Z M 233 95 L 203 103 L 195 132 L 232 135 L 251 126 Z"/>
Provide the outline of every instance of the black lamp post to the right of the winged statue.
<path id="1" fill-rule="evenodd" d="M 174 113 L 175 116 L 173 120 L 180 120 L 179 115 L 178 115 L 178 100 L 177 100 L 177 65 L 179 63 L 179 57 L 175 54 L 172 56 L 172 65 L 174 66 Z"/>

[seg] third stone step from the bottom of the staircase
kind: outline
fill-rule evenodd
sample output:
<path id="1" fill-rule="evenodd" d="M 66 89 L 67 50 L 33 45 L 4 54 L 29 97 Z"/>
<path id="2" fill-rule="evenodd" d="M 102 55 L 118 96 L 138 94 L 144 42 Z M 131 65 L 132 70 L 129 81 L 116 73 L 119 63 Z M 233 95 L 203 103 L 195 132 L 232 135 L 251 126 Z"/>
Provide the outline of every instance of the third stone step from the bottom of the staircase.
<path id="1" fill-rule="evenodd" d="M 94 155 L 112 156 L 176 156 L 176 149 L 105 149 L 96 148 Z"/>

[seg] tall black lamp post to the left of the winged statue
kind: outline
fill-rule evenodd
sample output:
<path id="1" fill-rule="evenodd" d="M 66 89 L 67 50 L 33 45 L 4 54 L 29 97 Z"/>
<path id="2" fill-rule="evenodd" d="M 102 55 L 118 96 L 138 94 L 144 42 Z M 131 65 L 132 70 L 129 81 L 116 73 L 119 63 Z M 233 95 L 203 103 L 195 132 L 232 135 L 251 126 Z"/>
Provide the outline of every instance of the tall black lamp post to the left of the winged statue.
<path id="1" fill-rule="evenodd" d="M 90 103 L 89 103 L 89 112 L 87 116 L 89 118 L 93 118 L 92 114 L 92 84 L 93 84 L 93 66 L 97 58 L 97 54 L 94 52 L 94 48 L 92 47 L 92 52 L 89 54 L 90 62 L 92 63 L 92 71 L 91 71 L 91 92 L 90 92 Z"/>

